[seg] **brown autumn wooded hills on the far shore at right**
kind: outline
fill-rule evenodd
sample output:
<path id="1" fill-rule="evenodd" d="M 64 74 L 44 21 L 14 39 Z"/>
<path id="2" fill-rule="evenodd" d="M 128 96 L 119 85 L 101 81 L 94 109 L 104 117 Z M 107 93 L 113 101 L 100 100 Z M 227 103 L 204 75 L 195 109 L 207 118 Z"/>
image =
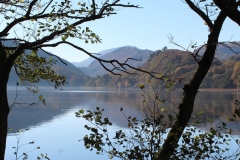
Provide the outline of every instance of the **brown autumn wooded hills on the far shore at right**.
<path id="1" fill-rule="evenodd" d="M 156 54 L 141 67 L 143 70 L 158 72 L 159 76 L 177 79 L 177 87 L 180 88 L 191 78 L 196 68 L 197 63 L 189 52 L 171 49 Z M 230 56 L 222 61 L 216 58 L 201 88 L 235 88 L 240 83 L 239 77 L 240 56 Z M 90 79 L 85 86 L 129 88 L 136 87 L 139 83 L 146 84 L 149 80 L 153 84 L 157 83 L 149 75 L 142 73 L 133 76 L 125 73 L 122 76 L 105 74 Z"/>

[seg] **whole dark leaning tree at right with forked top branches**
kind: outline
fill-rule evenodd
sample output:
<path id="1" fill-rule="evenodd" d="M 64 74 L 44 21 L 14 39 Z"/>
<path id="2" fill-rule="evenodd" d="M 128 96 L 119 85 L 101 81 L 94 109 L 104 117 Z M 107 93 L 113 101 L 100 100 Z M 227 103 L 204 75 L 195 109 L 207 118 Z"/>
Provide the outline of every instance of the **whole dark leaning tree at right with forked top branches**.
<path id="1" fill-rule="evenodd" d="M 192 116 L 195 97 L 198 89 L 209 71 L 215 56 L 216 47 L 219 44 L 219 35 L 222 30 L 222 25 L 228 16 L 237 24 L 240 25 L 240 1 L 236 0 L 213 0 L 211 2 L 205 0 L 185 0 L 185 3 L 204 20 L 209 30 L 207 43 L 203 46 L 191 46 L 195 48 L 194 52 L 189 52 L 197 63 L 197 70 L 190 81 L 183 87 L 182 101 L 178 105 L 178 113 L 170 130 L 167 133 L 167 138 L 161 145 L 161 148 L 155 153 L 153 159 L 168 160 L 173 158 L 174 151 L 178 147 L 178 142 L 183 136 L 184 130 Z M 173 39 L 170 39 L 175 43 Z M 176 43 L 175 43 L 176 44 Z M 178 45 L 178 44 L 176 44 Z M 203 55 L 199 56 L 200 50 L 205 47 Z M 120 141 L 121 143 L 121 141 Z"/>

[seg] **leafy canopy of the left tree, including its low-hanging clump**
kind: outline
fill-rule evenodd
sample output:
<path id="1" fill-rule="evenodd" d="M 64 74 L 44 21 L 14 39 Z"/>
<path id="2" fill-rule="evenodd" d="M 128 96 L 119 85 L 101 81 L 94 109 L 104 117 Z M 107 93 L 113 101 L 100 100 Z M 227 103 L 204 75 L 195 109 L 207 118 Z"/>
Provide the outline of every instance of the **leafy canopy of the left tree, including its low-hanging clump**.
<path id="1" fill-rule="evenodd" d="M 3 22 L 2 26 L 5 25 L 5 28 L 0 33 L 0 37 L 2 37 L 1 41 L 17 42 L 15 45 L 3 45 L 3 49 L 11 58 L 11 66 L 15 65 L 21 83 L 29 85 L 29 83 L 39 83 L 43 79 L 51 84 L 55 83 L 55 88 L 65 84 L 65 78 L 51 69 L 51 63 L 54 64 L 55 61 L 39 57 L 36 53 L 37 50 L 43 47 L 68 44 L 94 57 L 93 54 L 68 40 L 75 38 L 85 43 L 100 42 L 99 36 L 89 27 L 83 27 L 82 24 L 116 14 L 117 7 L 138 8 L 130 3 L 121 4 L 119 0 L 111 2 L 108 0 L 102 2 L 95 0 L 91 2 L 71 0 L 1 2 L 0 18 Z M 21 30 L 21 32 L 17 32 L 17 30 Z M 52 40 L 55 41 L 51 42 Z M 74 79 L 81 80 L 81 78 L 72 78 L 71 82 Z M 79 83 L 75 80 L 73 84 Z"/>

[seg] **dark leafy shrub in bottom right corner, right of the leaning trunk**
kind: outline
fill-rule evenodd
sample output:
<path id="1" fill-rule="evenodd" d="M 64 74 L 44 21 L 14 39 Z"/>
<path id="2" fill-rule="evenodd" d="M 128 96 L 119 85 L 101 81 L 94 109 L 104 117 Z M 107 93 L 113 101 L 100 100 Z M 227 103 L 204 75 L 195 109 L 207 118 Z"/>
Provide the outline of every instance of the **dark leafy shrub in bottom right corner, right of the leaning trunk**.
<path id="1" fill-rule="evenodd" d="M 212 121 L 209 120 L 212 124 Z M 232 136 L 227 123 L 219 120 L 219 125 L 203 130 L 202 124 L 193 123 L 185 129 L 179 147 L 172 157 L 180 159 L 238 159 L 240 144 L 237 138 Z M 230 150 L 231 141 L 239 146 Z M 232 152 L 233 151 L 233 152 Z M 231 153 L 232 152 L 232 153 Z"/>

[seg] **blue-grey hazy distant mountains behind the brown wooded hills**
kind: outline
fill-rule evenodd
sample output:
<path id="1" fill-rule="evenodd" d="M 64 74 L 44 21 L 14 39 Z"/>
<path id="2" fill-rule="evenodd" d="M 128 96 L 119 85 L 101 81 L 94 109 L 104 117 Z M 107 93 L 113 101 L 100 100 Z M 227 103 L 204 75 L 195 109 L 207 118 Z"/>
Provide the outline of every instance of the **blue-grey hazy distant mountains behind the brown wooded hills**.
<path id="1" fill-rule="evenodd" d="M 12 44 L 12 42 L 7 41 L 5 43 L 5 45 L 9 46 L 9 45 L 13 45 L 13 44 Z M 118 51 L 114 52 L 115 50 L 118 50 Z M 144 54 L 145 52 L 147 53 L 146 55 Z M 133 47 L 133 46 L 112 48 L 112 49 L 108 49 L 108 50 L 99 52 L 99 54 L 102 54 L 103 57 L 101 57 L 101 58 L 103 58 L 103 59 L 114 59 L 114 57 L 115 57 L 114 54 L 119 54 L 119 55 L 116 56 L 116 58 L 119 61 L 125 61 L 128 57 L 137 58 L 137 59 L 141 59 L 142 58 L 143 59 L 142 62 L 133 63 L 133 65 L 136 65 L 136 66 L 141 66 L 147 60 L 147 58 L 149 57 L 150 53 L 152 53 L 152 51 L 148 51 L 148 50 L 143 51 L 143 50 L 137 49 L 136 47 Z M 64 75 L 67 78 L 67 82 L 68 82 L 67 86 L 84 86 L 85 83 L 89 79 L 91 79 L 90 76 L 88 76 L 82 70 L 80 70 L 79 68 L 75 67 L 72 63 L 68 62 L 65 59 L 61 58 L 61 60 L 63 62 L 65 62 L 67 65 L 63 64 L 62 62 L 60 62 L 60 60 L 56 56 L 54 56 L 54 54 L 53 54 L 53 56 L 51 56 L 51 53 L 49 55 L 49 54 L 45 53 L 42 50 L 39 50 L 37 52 L 37 54 L 40 57 L 45 57 L 46 59 L 49 59 L 50 57 L 52 57 L 53 59 L 57 60 L 57 63 L 52 66 L 52 69 L 55 72 L 57 72 L 58 74 Z M 93 73 L 100 73 L 99 75 L 107 73 L 107 71 L 105 71 L 99 64 L 96 64 L 94 59 L 89 58 L 88 61 L 89 62 L 92 61 L 91 62 L 92 65 L 90 65 L 90 68 L 94 70 Z M 91 75 L 94 76 L 94 74 L 91 74 Z M 10 73 L 10 78 L 9 78 L 8 84 L 9 85 L 15 85 L 18 82 L 18 79 L 19 78 L 18 78 L 18 76 L 16 75 L 16 73 L 15 73 L 15 71 L 13 69 L 12 72 Z M 39 85 L 47 85 L 47 83 L 46 82 L 40 82 Z"/>

